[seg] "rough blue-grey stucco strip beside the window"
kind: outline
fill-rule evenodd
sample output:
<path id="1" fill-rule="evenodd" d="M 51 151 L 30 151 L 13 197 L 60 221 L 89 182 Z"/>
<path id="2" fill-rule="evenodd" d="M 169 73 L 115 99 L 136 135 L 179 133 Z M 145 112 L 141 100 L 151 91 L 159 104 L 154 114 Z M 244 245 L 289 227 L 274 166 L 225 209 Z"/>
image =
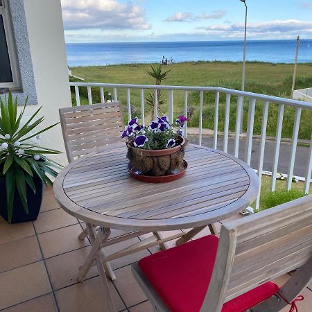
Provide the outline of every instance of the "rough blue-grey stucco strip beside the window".
<path id="1" fill-rule="evenodd" d="M 15 36 L 17 60 L 19 62 L 21 76 L 22 92 L 15 92 L 15 94 L 18 96 L 19 105 L 25 103 L 27 96 L 30 105 L 37 104 L 37 92 L 29 47 L 28 31 L 26 27 L 24 0 L 11 0 L 7 1 L 7 3 L 9 4 L 8 8 L 10 10 L 12 30 Z"/>

